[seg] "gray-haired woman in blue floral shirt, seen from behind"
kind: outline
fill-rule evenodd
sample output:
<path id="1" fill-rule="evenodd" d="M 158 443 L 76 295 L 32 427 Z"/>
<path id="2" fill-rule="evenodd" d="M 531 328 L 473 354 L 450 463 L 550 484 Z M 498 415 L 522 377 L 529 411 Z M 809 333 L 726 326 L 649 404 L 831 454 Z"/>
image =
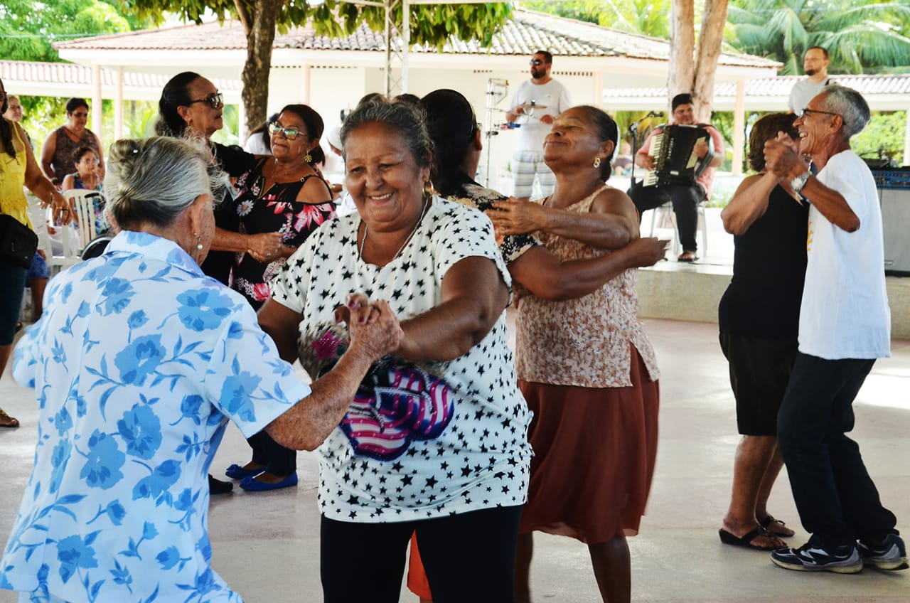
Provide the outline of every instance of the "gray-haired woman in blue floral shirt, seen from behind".
<path id="1" fill-rule="evenodd" d="M 15 349 L 39 441 L 0 588 L 20 601 L 239 601 L 207 534 L 206 473 L 227 421 L 316 447 L 401 330 L 386 304 L 350 295 L 347 353 L 300 383 L 247 301 L 199 269 L 215 229 L 207 151 L 120 140 L 109 159 L 121 232 L 54 279 Z"/>

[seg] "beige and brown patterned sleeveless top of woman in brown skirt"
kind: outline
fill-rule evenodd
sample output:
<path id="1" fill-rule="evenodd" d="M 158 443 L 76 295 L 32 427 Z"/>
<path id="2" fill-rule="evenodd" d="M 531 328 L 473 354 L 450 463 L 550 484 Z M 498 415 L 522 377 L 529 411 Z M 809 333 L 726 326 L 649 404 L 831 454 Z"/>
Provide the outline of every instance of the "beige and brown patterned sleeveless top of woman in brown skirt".
<path id="1" fill-rule="evenodd" d="M 587 213 L 601 190 L 566 209 Z M 545 231 L 538 236 L 561 261 L 609 253 Z M 657 358 L 644 324 L 638 320 L 635 276 L 633 269 L 624 271 L 597 291 L 574 300 L 543 300 L 530 293 L 522 297 L 515 338 L 519 377 L 554 385 L 630 386 L 632 343 L 656 380 Z"/>

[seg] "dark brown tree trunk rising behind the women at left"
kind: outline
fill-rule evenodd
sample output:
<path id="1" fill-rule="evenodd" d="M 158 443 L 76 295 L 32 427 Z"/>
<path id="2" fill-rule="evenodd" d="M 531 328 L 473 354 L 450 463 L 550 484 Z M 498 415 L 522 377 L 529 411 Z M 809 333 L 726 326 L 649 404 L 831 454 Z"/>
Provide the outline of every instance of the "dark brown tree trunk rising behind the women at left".
<path id="1" fill-rule="evenodd" d="M 240 98 L 247 113 L 247 131 L 257 128 L 268 114 L 268 73 L 272 68 L 272 44 L 275 25 L 283 0 L 258 0 L 250 8 L 235 1 L 238 17 L 247 32 L 247 62 L 240 79 Z"/>

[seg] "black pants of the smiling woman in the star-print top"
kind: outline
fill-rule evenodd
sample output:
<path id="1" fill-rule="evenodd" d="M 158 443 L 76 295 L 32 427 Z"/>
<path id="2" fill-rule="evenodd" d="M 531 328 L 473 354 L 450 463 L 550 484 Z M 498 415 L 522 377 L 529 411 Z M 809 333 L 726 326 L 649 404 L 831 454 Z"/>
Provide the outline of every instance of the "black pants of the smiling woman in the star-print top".
<path id="1" fill-rule="evenodd" d="M 511 603 L 523 506 L 388 524 L 322 516 L 319 572 L 326 603 L 398 603 L 410 535 L 433 603 Z"/>

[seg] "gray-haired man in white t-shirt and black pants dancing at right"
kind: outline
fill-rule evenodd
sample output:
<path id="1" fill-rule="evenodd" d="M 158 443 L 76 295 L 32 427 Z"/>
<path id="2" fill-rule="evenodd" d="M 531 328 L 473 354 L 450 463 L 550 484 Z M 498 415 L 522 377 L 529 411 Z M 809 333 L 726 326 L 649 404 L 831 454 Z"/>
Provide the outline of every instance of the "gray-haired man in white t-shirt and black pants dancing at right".
<path id="1" fill-rule="evenodd" d="M 864 564 L 907 567 L 897 519 L 882 506 L 859 446 L 845 434 L 875 359 L 891 355 L 882 213 L 872 172 L 850 149 L 868 121 L 858 92 L 826 87 L 795 122 L 798 149 L 783 135 L 764 148 L 765 167 L 811 203 L 799 353 L 777 415 L 777 440 L 812 537 L 803 547 L 773 551 L 773 563 L 786 569 L 849 574 Z M 812 156 L 817 175 L 804 155 Z"/>

